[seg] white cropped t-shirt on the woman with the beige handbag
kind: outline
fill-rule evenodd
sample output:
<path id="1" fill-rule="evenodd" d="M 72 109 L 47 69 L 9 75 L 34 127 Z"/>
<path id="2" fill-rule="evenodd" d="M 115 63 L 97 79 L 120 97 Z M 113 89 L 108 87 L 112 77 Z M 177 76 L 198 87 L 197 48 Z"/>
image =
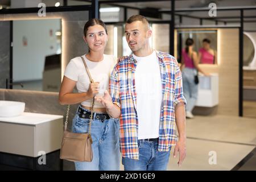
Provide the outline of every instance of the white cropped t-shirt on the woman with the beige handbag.
<path id="1" fill-rule="evenodd" d="M 117 59 L 115 59 L 113 55 L 105 54 L 104 59 L 100 62 L 90 61 L 86 59 L 85 55 L 82 55 L 82 57 L 85 59 L 85 63 L 89 69 L 93 81 L 100 82 L 100 90 L 98 94 L 104 95 L 105 90 L 109 91 L 109 77 L 115 64 L 117 63 Z M 77 81 L 76 88 L 79 93 L 88 91 L 90 79 L 80 56 L 69 61 L 67 68 L 65 69 L 64 76 L 70 78 L 71 80 Z M 92 99 L 81 102 L 81 105 L 91 107 Z M 104 107 L 104 105 L 95 101 L 94 107 Z"/>

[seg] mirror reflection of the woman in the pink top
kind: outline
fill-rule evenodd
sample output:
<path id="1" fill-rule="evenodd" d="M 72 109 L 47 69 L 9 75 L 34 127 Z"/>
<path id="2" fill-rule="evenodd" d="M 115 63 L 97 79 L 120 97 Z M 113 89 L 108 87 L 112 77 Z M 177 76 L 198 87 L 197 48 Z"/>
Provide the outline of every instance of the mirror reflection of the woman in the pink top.
<path id="1" fill-rule="evenodd" d="M 203 40 L 203 47 L 199 49 L 199 60 L 201 64 L 216 64 L 216 51 L 210 48 L 210 40 Z"/>

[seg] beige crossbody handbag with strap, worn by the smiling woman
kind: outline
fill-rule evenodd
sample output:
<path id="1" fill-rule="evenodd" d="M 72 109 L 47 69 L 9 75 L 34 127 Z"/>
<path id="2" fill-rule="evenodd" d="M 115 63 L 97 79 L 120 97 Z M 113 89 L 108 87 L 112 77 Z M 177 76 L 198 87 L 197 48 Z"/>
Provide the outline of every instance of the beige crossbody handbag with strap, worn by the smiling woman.
<path id="1" fill-rule="evenodd" d="M 84 57 L 82 57 L 82 62 L 84 63 L 84 67 L 86 72 L 90 78 L 90 82 L 94 83 L 92 77 L 90 76 L 89 69 L 85 63 Z M 92 152 L 92 136 L 90 135 L 90 129 L 93 121 L 93 107 L 94 107 L 94 97 L 92 101 L 92 110 L 90 111 L 90 119 L 89 119 L 89 130 L 88 133 L 72 133 L 67 131 L 68 126 L 68 114 L 69 107 L 67 109 L 67 115 L 65 119 L 65 128 L 63 139 L 61 143 L 60 149 L 60 159 L 70 160 L 73 162 L 92 162 L 93 152 Z"/>

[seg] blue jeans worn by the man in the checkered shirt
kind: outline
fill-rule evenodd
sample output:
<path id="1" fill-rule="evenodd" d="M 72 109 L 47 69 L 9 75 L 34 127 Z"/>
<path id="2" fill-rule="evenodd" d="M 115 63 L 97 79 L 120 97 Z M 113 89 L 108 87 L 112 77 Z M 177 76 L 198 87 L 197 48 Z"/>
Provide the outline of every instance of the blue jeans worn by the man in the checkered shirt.
<path id="1" fill-rule="evenodd" d="M 166 171 L 170 157 L 168 152 L 158 151 L 158 142 L 138 140 L 139 160 L 122 158 L 125 171 Z"/>

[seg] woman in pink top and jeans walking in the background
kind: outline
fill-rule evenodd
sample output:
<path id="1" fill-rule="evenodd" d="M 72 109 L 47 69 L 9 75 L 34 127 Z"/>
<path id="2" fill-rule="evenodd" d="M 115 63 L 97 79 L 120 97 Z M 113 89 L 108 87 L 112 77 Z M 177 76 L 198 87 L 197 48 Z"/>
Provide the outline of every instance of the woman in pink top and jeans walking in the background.
<path id="1" fill-rule="evenodd" d="M 205 76 L 208 76 L 208 73 L 205 73 L 199 67 L 199 61 L 197 59 L 197 53 L 193 51 L 193 39 L 188 38 L 185 42 L 185 49 L 182 50 L 181 56 L 181 72 L 183 78 L 183 93 L 184 97 L 187 100 L 186 105 L 186 117 L 193 118 L 192 110 L 195 107 L 197 94 L 198 94 L 198 85 L 195 83 L 195 76 L 197 72 L 203 73 Z"/>

